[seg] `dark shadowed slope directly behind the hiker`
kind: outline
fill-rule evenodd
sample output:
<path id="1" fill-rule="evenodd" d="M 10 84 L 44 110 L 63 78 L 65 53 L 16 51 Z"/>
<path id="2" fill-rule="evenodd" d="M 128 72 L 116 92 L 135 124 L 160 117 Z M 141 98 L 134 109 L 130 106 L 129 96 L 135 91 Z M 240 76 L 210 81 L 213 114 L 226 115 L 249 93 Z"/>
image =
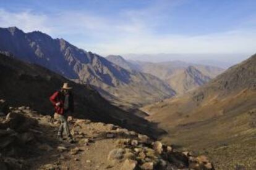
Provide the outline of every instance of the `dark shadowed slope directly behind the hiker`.
<path id="1" fill-rule="evenodd" d="M 119 124 L 127 129 L 157 137 L 164 131 L 143 118 L 114 107 L 89 85 L 77 84 L 39 65 L 0 54 L 0 98 L 14 106 L 26 105 L 41 114 L 53 114 L 49 96 L 62 83 L 73 87 L 75 117 Z M 125 122 L 125 123 L 124 123 Z"/>

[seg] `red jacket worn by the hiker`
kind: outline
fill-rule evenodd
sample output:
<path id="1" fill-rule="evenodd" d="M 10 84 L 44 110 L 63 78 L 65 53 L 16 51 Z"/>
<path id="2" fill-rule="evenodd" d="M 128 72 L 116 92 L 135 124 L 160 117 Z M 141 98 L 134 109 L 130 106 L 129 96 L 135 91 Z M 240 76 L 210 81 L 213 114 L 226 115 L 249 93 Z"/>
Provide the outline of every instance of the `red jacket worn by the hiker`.
<path id="1" fill-rule="evenodd" d="M 69 96 L 69 110 L 71 112 L 74 112 L 73 95 L 70 92 L 69 92 L 69 95 L 70 95 Z M 51 101 L 51 103 L 53 103 L 55 112 L 58 113 L 59 115 L 64 115 L 64 113 L 66 111 L 66 110 L 64 110 L 65 95 L 60 91 L 56 91 L 56 92 L 54 92 L 53 95 L 51 95 L 49 100 Z M 56 106 L 56 103 L 58 103 L 58 102 L 60 103 L 60 105 Z"/>

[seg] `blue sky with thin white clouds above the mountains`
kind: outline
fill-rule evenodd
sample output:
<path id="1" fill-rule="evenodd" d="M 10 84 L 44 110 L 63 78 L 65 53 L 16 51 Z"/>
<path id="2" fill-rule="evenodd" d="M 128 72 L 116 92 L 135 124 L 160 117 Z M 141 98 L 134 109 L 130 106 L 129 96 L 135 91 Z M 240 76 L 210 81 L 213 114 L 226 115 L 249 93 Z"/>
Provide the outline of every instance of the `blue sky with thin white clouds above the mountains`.
<path id="1" fill-rule="evenodd" d="M 255 0 L 0 0 L 17 26 L 108 54 L 255 54 Z"/>

